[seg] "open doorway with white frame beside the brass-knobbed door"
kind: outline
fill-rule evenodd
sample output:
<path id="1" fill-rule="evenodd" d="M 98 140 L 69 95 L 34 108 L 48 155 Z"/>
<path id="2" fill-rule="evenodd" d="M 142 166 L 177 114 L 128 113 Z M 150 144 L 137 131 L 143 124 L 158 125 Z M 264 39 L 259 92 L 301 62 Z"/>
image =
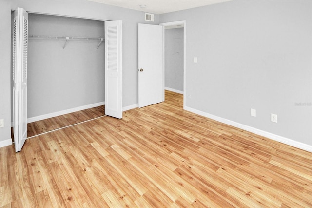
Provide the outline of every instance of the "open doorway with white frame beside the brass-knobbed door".
<path id="1" fill-rule="evenodd" d="M 186 21 L 167 22 L 160 25 L 164 26 L 165 90 L 184 95 L 186 91 Z M 183 96 L 184 107 L 185 96 Z"/>

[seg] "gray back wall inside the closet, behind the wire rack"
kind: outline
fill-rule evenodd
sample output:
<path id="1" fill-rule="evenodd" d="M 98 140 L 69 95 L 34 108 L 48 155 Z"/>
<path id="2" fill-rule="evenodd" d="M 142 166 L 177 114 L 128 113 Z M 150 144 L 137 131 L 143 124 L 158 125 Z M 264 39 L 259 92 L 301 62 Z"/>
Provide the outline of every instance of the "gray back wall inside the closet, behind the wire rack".
<path id="1" fill-rule="evenodd" d="M 104 38 L 104 21 L 29 14 L 28 34 Z M 28 119 L 104 103 L 104 42 L 65 41 L 28 39 Z"/>

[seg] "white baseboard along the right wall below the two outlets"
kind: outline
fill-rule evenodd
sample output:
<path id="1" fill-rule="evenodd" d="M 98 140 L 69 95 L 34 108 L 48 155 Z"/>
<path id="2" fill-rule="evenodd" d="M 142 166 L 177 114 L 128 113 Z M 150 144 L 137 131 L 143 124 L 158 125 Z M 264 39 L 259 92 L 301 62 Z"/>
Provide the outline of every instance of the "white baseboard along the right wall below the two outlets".
<path id="1" fill-rule="evenodd" d="M 260 129 L 257 129 L 257 128 L 254 128 L 254 127 L 251 127 L 251 126 L 248 126 L 248 125 L 243 125 L 243 124 L 240 124 L 240 123 L 228 120 L 228 119 L 224 119 L 224 118 L 221 118 L 221 117 L 209 114 L 209 113 L 205 113 L 203 111 L 196 110 L 196 109 L 191 108 L 191 107 L 185 106 L 184 109 L 188 110 L 190 112 L 196 113 L 198 115 L 205 116 L 207 118 L 213 119 L 215 121 L 218 121 L 218 122 L 221 122 L 221 123 L 224 123 L 224 124 L 227 124 L 227 125 L 232 125 L 234 127 L 241 128 L 243 130 L 255 133 L 255 134 L 263 136 L 263 137 L 267 137 L 269 139 L 281 142 L 283 144 L 290 145 L 290 146 L 293 146 L 293 147 L 297 147 L 299 149 L 303 149 L 303 150 L 306 150 L 308 152 L 312 152 L 312 146 L 310 146 L 310 145 L 307 145 L 307 144 L 304 144 L 304 143 L 301 143 L 301 142 L 297 142 L 297 141 L 294 141 L 292 139 L 288 139 L 288 138 L 285 138 L 285 137 L 282 137 L 282 136 L 279 136 L 279 135 L 276 135 L 276 134 L 273 134 L 273 133 L 270 133 L 270 132 L 267 132 L 267 131 L 263 131 L 263 130 L 260 130 Z"/>

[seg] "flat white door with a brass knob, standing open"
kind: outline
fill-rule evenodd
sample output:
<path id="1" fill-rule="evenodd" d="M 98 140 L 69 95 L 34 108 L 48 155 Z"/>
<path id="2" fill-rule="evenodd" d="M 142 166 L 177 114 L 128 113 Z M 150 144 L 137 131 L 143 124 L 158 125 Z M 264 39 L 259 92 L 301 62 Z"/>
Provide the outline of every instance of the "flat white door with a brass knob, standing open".
<path id="1" fill-rule="evenodd" d="M 138 24 L 138 107 L 165 100 L 163 26 Z"/>

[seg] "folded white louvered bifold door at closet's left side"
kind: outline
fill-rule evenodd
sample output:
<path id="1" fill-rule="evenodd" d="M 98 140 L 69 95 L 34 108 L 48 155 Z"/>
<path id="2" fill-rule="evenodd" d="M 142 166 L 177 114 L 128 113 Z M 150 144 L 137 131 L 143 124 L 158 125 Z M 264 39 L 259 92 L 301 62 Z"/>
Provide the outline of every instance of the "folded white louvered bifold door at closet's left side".
<path id="1" fill-rule="evenodd" d="M 14 12 L 13 27 L 13 134 L 19 152 L 27 138 L 28 13 L 23 8 Z"/>

